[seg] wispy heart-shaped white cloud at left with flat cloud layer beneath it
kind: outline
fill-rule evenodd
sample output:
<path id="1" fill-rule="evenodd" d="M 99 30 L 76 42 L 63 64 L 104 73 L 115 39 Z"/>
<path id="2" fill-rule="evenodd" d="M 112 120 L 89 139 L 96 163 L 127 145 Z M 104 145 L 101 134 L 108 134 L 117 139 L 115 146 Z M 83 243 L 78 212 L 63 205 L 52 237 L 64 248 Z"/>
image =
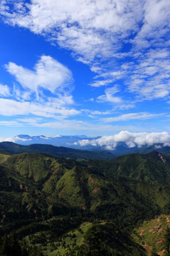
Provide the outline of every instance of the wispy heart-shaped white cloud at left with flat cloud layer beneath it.
<path id="1" fill-rule="evenodd" d="M 42 55 L 33 70 L 13 62 L 6 64 L 5 68 L 17 83 L 11 88 L 11 93 L 7 85 L 0 84 L 0 95 L 7 97 L 0 98 L 1 115 L 35 115 L 56 119 L 81 112 L 69 107 L 74 105 L 71 70 L 54 58 Z"/>

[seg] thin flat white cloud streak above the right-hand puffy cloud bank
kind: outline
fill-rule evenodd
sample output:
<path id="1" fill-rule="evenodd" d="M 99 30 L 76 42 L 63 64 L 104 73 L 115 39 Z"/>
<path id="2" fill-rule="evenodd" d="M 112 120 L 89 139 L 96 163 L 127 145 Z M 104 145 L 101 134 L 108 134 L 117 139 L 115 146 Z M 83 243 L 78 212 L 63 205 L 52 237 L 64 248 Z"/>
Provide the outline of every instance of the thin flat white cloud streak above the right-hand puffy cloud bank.
<path id="1" fill-rule="evenodd" d="M 164 116 L 165 113 L 147 113 L 147 112 L 141 112 L 141 113 L 128 113 L 128 114 L 122 114 L 120 116 L 113 116 L 113 117 L 106 117 L 102 120 L 104 122 L 117 122 L 117 121 L 126 121 L 126 120 L 134 120 L 134 119 L 150 119 L 154 117 Z"/>

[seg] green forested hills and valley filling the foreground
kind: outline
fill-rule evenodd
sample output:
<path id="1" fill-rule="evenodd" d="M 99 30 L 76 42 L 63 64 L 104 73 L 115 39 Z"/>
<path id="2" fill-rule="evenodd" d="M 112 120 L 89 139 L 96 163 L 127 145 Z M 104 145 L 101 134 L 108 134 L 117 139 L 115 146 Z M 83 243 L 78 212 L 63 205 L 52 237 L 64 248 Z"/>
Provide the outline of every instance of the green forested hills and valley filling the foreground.
<path id="1" fill-rule="evenodd" d="M 0 154 L 2 256 L 144 256 L 134 232 L 161 214 L 170 214 L 170 159 L 158 152 L 111 160 Z"/>

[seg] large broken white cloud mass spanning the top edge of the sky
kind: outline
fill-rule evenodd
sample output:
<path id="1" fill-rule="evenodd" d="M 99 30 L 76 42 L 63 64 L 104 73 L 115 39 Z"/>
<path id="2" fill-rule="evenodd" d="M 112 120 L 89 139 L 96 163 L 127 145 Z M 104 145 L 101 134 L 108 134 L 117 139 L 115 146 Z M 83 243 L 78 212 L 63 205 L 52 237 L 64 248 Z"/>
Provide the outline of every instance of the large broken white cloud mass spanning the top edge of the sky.
<path id="1" fill-rule="evenodd" d="M 148 38 L 161 38 L 169 29 L 169 10 L 167 0 L 31 0 L 29 4 L 6 0 L 0 4 L 5 22 L 46 36 L 86 63 L 115 56 L 129 35 L 136 35 L 133 42 L 140 46 L 148 45 Z"/>

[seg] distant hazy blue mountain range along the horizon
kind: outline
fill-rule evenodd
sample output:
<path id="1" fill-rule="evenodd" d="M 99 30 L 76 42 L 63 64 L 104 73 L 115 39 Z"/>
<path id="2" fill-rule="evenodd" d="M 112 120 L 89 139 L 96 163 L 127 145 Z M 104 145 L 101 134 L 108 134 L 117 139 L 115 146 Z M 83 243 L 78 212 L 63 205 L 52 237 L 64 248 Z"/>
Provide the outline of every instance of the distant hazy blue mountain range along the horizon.
<path id="1" fill-rule="evenodd" d="M 62 135 L 54 135 L 51 137 L 47 137 L 44 135 L 40 136 L 29 136 L 29 135 L 17 135 L 15 137 L 15 142 L 20 145 L 31 145 L 31 144 L 50 144 L 53 146 L 58 147 L 67 147 L 67 148 L 74 148 L 74 149 L 82 149 L 86 151 L 106 151 L 104 147 L 100 146 L 93 146 L 93 145 L 86 145 L 81 146 L 78 141 L 80 140 L 96 140 L 101 138 L 101 136 L 98 137 L 88 137 L 85 135 L 74 135 L 74 136 L 62 136 Z M 133 154 L 133 153 L 139 153 L 139 154 L 147 154 L 151 151 L 158 151 L 160 153 L 166 153 L 170 152 L 170 147 L 166 146 L 164 147 L 161 144 L 154 144 L 152 146 L 142 146 L 141 148 L 138 148 L 137 146 L 133 148 L 128 148 L 126 143 L 118 143 L 115 150 L 109 150 L 112 154 L 115 156 L 125 155 L 125 154 Z M 108 151 L 108 150 L 107 150 Z"/>

